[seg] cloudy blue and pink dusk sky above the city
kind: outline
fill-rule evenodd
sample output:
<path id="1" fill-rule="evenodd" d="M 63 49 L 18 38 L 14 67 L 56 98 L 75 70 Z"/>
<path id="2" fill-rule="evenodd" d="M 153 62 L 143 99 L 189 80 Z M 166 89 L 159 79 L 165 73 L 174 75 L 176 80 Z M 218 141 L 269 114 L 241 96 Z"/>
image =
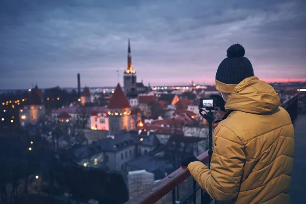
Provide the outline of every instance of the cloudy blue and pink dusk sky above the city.
<path id="1" fill-rule="evenodd" d="M 306 80 L 306 1 L 1 0 L 0 89 L 213 83 L 241 43 L 266 81 Z"/>

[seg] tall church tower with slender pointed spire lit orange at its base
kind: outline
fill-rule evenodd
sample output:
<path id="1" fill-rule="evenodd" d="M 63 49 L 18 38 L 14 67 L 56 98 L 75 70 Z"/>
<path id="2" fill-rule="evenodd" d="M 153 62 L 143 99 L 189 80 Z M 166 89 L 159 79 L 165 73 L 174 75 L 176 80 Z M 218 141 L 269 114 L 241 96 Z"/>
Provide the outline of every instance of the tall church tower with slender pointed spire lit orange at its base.
<path id="1" fill-rule="evenodd" d="M 133 69 L 130 39 L 127 47 L 127 67 L 123 72 L 123 88 L 127 97 L 137 97 L 136 71 Z"/>

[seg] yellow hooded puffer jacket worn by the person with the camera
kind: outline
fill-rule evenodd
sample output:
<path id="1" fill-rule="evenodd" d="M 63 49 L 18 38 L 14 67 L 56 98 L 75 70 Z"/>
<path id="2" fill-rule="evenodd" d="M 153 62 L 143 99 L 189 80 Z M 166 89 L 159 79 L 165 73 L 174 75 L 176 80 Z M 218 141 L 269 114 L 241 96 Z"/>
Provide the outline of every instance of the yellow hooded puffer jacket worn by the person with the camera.
<path id="1" fill-rule="evenodd" d="M 213 134 L 211 169 L 188 169 L 212 198 L 230 203 L 289 203 L 293 125 L 275 90 L 257 77 L 239 83 Z"/>

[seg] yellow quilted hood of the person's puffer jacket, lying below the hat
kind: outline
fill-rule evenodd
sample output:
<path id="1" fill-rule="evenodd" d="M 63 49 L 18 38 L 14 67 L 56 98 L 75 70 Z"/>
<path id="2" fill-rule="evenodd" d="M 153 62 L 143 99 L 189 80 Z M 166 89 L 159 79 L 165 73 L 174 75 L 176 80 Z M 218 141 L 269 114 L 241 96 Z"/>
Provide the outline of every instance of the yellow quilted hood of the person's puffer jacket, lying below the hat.
<path id="1" fill-rule="evenodd" d="M 273 87 L 257 77 L 249 77 L 235 87 L 226 101 L 225 109 L 265 114 L 275 111 L 279 105 L 281 100 Z"/>

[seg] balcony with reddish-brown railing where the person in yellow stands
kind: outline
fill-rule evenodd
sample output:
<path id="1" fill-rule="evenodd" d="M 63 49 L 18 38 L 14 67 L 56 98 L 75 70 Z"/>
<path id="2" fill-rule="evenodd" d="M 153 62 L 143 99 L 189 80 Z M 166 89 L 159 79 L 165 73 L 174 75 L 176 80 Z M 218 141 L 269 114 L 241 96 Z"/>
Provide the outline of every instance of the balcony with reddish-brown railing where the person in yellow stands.
<path id="1" fill-rule="evenodd" d="M 306 94 L 296 94 L 284 101 L 281 105 L 290 114 L 291 120 L 294 122 L 295 131 L 295 157 L 294 170 L 292 174 L 291 197 L 292 203 L 306 203 L 306 197 L 303 196 L 306 185 Z M 200 161 L 207 164 L 209 160 L 208 152 L 197 157 Z M 139 193 L 136 197 L 130 199 L 125 204 L 132 203 L 212 203 L 212 199 L 206 194 L 195 182 L 192 181 L 190 190 L 181 196 L 177 193 L 178 187 L 186 180 L 192 179 L 186 167 L 181 167 L 163 180 L 156 183 L 149 190 Z M 179 195 L 180 194 L 180 195 Z"/>

